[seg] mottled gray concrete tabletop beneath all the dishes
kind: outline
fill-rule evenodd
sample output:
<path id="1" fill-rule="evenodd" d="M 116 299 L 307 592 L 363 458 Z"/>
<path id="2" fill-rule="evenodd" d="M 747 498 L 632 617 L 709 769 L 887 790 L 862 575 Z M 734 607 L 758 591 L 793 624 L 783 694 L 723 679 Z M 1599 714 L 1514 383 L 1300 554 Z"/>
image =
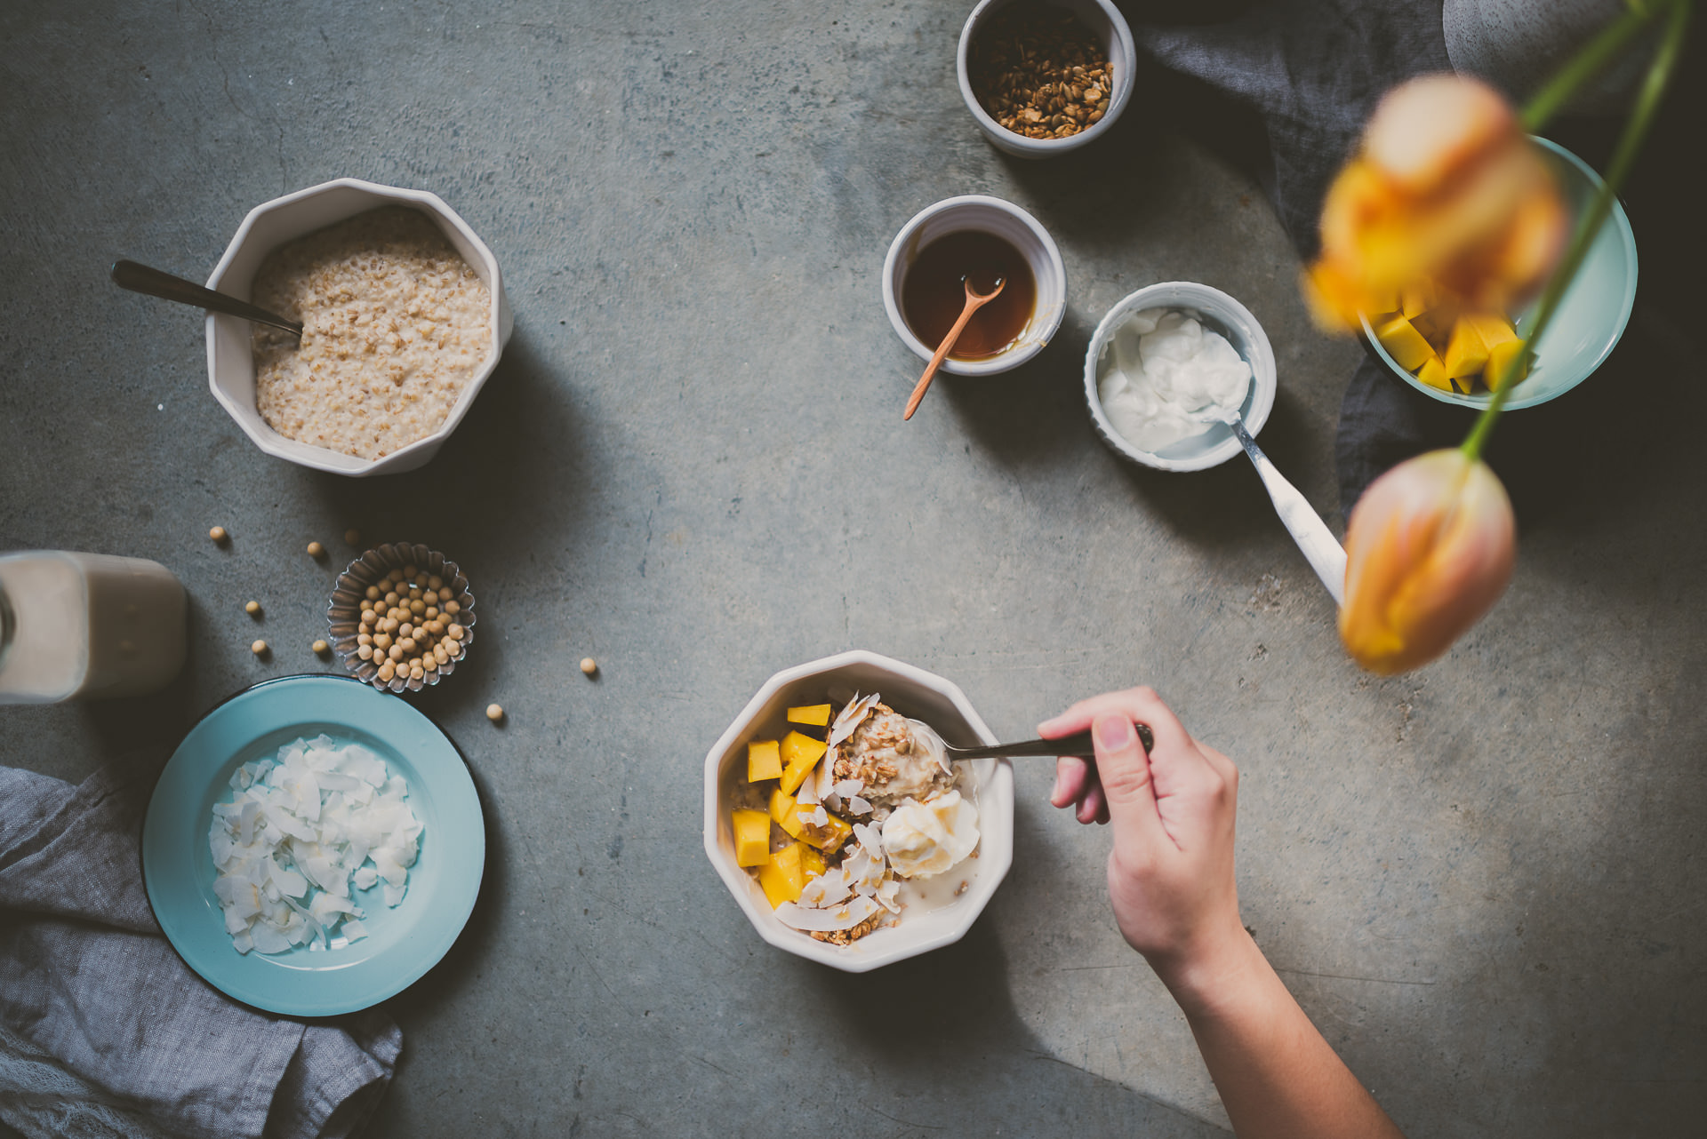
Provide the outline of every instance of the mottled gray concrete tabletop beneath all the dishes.
<path id="1" fill-rule="evenodd" d="M 1123 467 L 1079 394 L 1115 300 L 1222 286 L 1280 361 L 1263 443 L 1337 517 L 1359 350 L 1309 329 L 1214 131 L 1166 126 L 1188 106 L 1052 165 L 980 142 L 964 9 L 0 10 L 0 547 L 155 558 L 193 597 L 164 699 L 0 709 L 0 762 L 79 779 L 323 668 L 331 571 L 304 542 L 430 542 L 480 641 L 420 704 L 469 755 L 490 863 L 456 950 L 389 1003 L 405 1061 L 372 1134 L 1210 1136 L 1190 1035 L 1106 912 L 1106 834 L 1046 807 L 1041 764 L 985 917 L 877 975 L 760 943 L 700 853 L 705 749 L 785 665 L 889 653 L 1004 737 L 1149 682 L 1239 762 L 1244 919 L 1410 1134 L 1698 1129 L 1698 225 L 1680 247 L 1632 201 L 1618 367 L 1502 428 L 1509 593 L 1446 660 L 1371 679 L 1246 465 Z M 256 452 L 207 392 L 200 317 L 106 281 L 118 256 L 205 276 L 249 206 L 345 174 L 444 196 L 516 307 L 439 459 L 374 483 Z M 884 247 L 968 191 L 1050 227 L 1070 310 L 1038 361 L 939 380 L 903 426 Z"/>

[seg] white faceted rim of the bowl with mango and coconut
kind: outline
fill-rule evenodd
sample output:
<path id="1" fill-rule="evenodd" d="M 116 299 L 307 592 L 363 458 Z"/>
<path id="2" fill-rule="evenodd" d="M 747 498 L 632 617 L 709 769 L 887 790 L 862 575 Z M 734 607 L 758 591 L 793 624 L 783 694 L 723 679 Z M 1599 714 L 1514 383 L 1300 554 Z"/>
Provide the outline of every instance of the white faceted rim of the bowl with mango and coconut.
<path id="1" fill-rule="evenodd" d="M 864 974 L 872 968 L 881 968 L 883 965 L 893 965 L 894 962 L 918 957 L 920 953 L 929 953 L 930 950 L 939 950 L 946 945 L 954 945 L 966 936 L 966 931 L 971 929 L 971 926 L 983 914 L 1014 863 L 1014 769 L 1005 759 L 995 760 L 988 783 L 978 788 L 978 822 L 983 830 L 983 839 L 980 839 L 978 844 L 978 880 L 966 897 L 958 902 L 966 905 L 966 912 L 953 928 L 920 941 L 894 945 L 883 953 L 850 953 L 847 946 L 814 941 L 799 929 L 784 926 L 777 921 L 777 916 L 770 911 L 768 904 L 763 905 L 763 911 L 760 909 L 753 899 L 754 887 L 751 875 L 736 866 L 734 858 L 722 849 L 719 841 L 722 827 L 719 784 L 724 755 L 727 755 L 729 750 L 741 742 L 743 731 L 749 728 L 751 721 L 763 711 L 765 704 L 784 687 L 814 675 L 847 668 L 848 665 L 883 668 L 884 672 L 893 672 L 903 680 L 946 697 L 982 742 L 999 743 L 995 733 L 990 731 L 990 726 L 983 721 L 976 709 L 973 709 L 971 701 L 966 699 L 966 694 L 961 692 L 959 685 L 891 656 L 883 656 L 865 650 L 850 650 L 847 653 L 836 653 L 835 656 L 811 660 L 804 665 L 795 665 L 794 668 L 784 668 L 760 685 L 753 699 L 741 709 L 741 714 L 734 718 L 729 728 L 717 738 L 717 743 L 712 745 L 712 750 L 705 754 L 705 856 L 710 859 L 717 876 L 724 880 L 724 885 L 741 907 L 741 912 L 744 912 L 748 921 L 753 922 L 753 929 L 758 931 L 758 936 L 766 943 L 811 962 L 818 962 L 819 965 L 828 965 L 848 974 Z M 1005 825 L 1005 837 L 1002 842 L 990 841 L 987 815 L 992 808 Z M 900 929 L 905 929 L 905 924 L 900 926 L 898 931 Z"/>

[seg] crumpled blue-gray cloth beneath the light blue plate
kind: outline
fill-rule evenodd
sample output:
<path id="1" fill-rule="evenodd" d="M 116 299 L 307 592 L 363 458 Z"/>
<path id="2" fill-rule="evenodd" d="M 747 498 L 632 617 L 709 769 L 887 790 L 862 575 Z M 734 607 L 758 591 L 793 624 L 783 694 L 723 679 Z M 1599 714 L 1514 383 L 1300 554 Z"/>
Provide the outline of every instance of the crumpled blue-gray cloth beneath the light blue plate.
<path id="1" fill-rule="evenodd" d="M 401 1030 L 376 1009 L 258 1013 L 183 963 L 142 885 L 159 769 L 123 760 L 73 788 L 0 767 L 0 1119 L 32 1137 L 113 1134 L 114 1119 L 186 1139 L 353 1134 Z M 67 1086 L 96 1100 L 80 1110 Z"/>

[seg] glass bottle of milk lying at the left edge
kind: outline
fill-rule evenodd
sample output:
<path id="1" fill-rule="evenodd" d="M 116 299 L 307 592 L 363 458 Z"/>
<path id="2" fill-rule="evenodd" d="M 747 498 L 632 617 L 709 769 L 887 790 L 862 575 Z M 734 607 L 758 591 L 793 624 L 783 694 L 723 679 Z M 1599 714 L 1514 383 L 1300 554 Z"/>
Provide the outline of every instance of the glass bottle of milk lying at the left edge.
<path id="1" fill-rule="evenodd" d="M 184 665 L 184 587 L 157 561 L 0 554 L 0 704 L 142 696 Z"/>

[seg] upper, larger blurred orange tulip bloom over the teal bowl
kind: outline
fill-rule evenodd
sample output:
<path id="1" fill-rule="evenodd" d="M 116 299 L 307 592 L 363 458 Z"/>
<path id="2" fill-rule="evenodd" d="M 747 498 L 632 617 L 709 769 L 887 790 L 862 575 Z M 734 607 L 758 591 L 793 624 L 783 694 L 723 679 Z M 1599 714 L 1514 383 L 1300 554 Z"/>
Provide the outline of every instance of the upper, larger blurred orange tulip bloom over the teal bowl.
<path id="1" fill-rule="evenodd" d="M 1509 312 L 1552 271 L 1567 223 L 1506 99 L 1475 78 L 1424 75 L 1386 94 L 1328 188 L 1304 295 L 1330 331 L 1419 281 Z"/>

